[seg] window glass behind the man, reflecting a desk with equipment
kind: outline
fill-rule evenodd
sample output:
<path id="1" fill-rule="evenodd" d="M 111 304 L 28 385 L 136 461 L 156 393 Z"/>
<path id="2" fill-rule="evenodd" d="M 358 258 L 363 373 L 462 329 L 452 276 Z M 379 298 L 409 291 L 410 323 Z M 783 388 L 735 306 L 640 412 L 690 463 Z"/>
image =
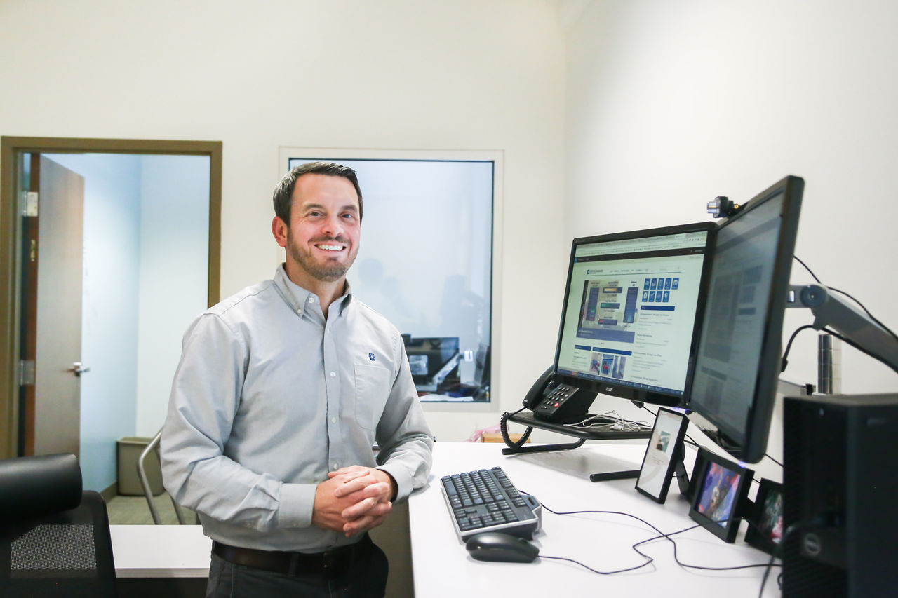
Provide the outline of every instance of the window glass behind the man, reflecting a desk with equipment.
<path id="1" fill-rule="evenodd" d="M 314 160 L 358 173 L 365 215 L 349 284 L 402 332 L 421 400 L 489 400 L 494 163 L 288 165 Z"/>

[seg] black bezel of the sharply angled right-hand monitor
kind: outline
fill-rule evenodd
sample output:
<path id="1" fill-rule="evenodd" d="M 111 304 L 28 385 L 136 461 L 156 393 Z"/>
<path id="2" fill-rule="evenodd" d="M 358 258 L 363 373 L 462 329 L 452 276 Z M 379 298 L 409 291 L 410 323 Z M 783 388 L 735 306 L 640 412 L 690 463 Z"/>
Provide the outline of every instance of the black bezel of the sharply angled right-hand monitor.
<path id="1" fill-rule="evenodd" d="M 738 223 L 746 214 L 763 206 L 773 198 L 782 195 L 782 204 L 779 209 L 779 239 L 773 260 L 773 274 L 770 278 L 770 295 L 767 298 L 766 317 L 764 320 L 761 358 L 758 364 L 758 373 L 755 376 L 754 394 L 745 420 L 744 430 L 734 430 L 726 425 L 726 422 L 715 417 L 691 400 L 686 405 L 700 418 L 710 423 L 714 429 L 710 430 L 709 438 L 740 461 L 756 463 L 762 460 L 767 452 L 767 438 L 770 435 L 770 419 L 776 402 L 777 384 L 781 370 L 782 358 L 782 330 L 783 316 L 788 301 L 789 277 L 792 272 L 792 259 L 795 253 L 795 245 L 798 235 L 798 215 L 801 211 L 801 201 L 805 189 L 805 180 L 797 176 L 789 175 L 779 180 L 769 188 L 764 189 L 755 197 L 744 203 L 742 209 L 730 216 L 718 226 L 717 239 L 720 231 Z M 717 255 L 717 244 L 711 251 Z M 709 268 L 710 279 L 714 276 L 713 262 Z M 779 314 L 779 315 L 775 315 Z M 699 328 L 704 324 L 704 318 Z M 698 343 L 700 344 L 699 336 Z M 697 351 L 700 347 L 697 347 Z M 696 353 L 698 358 L 698 352 Z M 698 360 L 698 359 L 697 359 Z M 693 370 L 694 372 L 694 370 Z M 693 374 L 694 375 L 694 374 Z M 704 421 L 698 419 L 696 423 L 705 427 Z M 736 437 L 735 434 L 742 437 Z"/>

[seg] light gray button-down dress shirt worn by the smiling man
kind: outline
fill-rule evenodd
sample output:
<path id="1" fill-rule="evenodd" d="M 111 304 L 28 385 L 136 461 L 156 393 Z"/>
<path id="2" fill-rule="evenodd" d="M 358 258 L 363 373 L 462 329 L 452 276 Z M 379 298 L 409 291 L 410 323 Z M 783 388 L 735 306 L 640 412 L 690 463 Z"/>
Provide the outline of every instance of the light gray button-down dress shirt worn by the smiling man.
<path id="1" fill-rule="evenodd" d="M 349 292 L 325 320 L 281 265 L 185 333 L 161 448 L 165 488 L 213 540 L 318 552 L 358 540 L 312 524 L 328 470 L 376 466 L 405 498 L 433 441 L 399 331 Z"/>

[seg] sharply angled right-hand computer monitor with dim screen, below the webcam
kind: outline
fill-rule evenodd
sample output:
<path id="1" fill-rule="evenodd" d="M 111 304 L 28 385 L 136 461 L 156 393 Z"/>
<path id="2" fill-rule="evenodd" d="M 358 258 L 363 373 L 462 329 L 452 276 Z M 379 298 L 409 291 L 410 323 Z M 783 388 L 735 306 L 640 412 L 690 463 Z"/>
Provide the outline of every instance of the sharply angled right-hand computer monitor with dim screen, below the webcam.
<path id="1" fill-rule="evenodd" d="M 804 188 L 789 176 L 764 190 L 720 224 L 714 245 L 688 408 L 744 462 L 761 461 L 767 448 Z"/>

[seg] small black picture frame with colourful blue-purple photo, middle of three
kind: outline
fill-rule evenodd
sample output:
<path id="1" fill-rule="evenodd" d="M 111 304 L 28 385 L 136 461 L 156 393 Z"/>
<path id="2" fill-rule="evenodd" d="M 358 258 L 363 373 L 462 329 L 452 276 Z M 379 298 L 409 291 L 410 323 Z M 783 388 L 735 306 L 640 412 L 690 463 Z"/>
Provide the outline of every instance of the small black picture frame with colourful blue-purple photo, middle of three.
<path id="1" fill-rule="evenodd" d="M 692 470 L 689 516 L 723 541 L 735 541 L 754 471 L 700 448 Z"/>

